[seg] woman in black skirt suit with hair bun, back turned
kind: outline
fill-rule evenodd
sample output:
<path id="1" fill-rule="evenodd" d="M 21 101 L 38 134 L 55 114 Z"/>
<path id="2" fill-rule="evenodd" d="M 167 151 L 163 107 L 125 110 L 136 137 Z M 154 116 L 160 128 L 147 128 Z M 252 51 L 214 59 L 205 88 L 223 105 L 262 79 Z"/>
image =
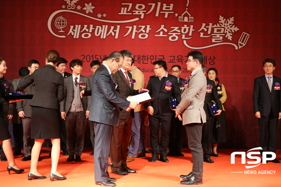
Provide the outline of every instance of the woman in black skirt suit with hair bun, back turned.
<path id="1" fill-rule="evenodd" d="M 46 66 L 37 69 L 30 76 L 21 79 L 18 90 L 23 91 L 34 82 L 35 92 L 31 101 L 31 138 L 35 143 L 31 152 L 31 167 L 28 179 L 43 179 L 37 172 L 37 162 L 44 139 L 51 139 L 52 147 L 52 170 L 50 179 L 66 179 L 57 171 L 60 156 L 60 124 L 59 124 L 59 102 L 64 99 L 64 80 L 59 72 L 55 70 L 60 55 L 51 50 L 46 55 Z"/>

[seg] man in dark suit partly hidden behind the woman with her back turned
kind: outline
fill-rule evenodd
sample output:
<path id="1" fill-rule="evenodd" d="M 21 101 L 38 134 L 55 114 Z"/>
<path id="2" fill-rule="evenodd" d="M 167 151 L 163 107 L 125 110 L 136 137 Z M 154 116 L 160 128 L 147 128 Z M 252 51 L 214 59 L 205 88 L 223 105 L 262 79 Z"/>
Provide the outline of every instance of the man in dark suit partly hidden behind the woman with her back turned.
<path id="1" fill-rule="evenodd" d="M 33 72 L 40 68 L 40 64 L 37 60 L 30 60 L 28 62 L 28 70 L 29 75 L 33 74 Z M 27 75 L 27 76 L 29 76 Z M 20 79 L 19 84 L 27 77 L 23 77 Z M 25 88 L 25 92 L 27 94 L 34 94 L 35 92 L 35 85 L 32 83 L 28 87 Z M 24 131 L 24 158 L 22 161 L 31 160 L 31 147 L 34 144 L 34 140 L 31 139 L 31 100 L 23 100 L 17 102 L 17 108 L 19 116 L 22 118 L 23 121 L 23 131 Z"/>

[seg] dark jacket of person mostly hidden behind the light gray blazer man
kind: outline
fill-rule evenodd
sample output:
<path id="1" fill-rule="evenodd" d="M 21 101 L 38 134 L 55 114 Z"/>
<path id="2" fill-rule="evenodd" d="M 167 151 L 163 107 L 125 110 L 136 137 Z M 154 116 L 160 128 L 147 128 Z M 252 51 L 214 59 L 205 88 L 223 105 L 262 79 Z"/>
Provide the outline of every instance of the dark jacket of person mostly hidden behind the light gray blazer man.
<path id="1" fill-rule="evenodd" d="M 222 104 L 221 101 L 219 100 L 218 89 L 216 87 L 215 82 L 210 79 L 207 79 L 207 84 L 212 85 L 212 93 L 206 92 L 205 100 L 204 100 L 204 110 L 206 112 L 206 119 L 209 120 L 213 117 L 213 115 L 210 111 L 208 103 L 211 103 L 212 100 L 214 100 L 215 103 L 217 104 L 218 110 L 222 110 Z"/>

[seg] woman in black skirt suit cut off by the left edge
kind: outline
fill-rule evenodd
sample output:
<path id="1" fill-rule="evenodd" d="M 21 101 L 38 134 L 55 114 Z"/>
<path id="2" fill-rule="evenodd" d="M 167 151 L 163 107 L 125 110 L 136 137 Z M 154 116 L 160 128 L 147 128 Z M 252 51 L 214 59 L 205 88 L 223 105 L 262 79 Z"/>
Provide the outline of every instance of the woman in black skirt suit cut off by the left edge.
<path id="1" fill-rule="evenodd" d="M 1 78 L 1 80 L 0 80 L 0 104 L 1 105 L 9 104 L 9 102 L 3 98 L 3 95 L 5 95 L 5 89 L 6 89 L 5 87 L 7 87 L 7 85 L 5 85 L 2 82 L 2 77 L 4 76 L 6 71 L 7 71 L 6 62 L 4 61 L 4 59 L 0 58 L 0 78 Z M 10 174 L 11 170 L 15 171 L 16 173 L 24 172 L 24 169 L 20 169 L 15 163 L 13 149 L 12 149 L 12 145 L 11 145 L 11 134 L 10 134 L 8 126 L 6 125 L 6 122 L 4 120 L 3 107 L 0 106 L 0 144 L 2 142 L 3 142 L 4 153 L 6 154 L 6 157 L 9 162 L 9 166 L 7 168 L 9 174 Z"/>

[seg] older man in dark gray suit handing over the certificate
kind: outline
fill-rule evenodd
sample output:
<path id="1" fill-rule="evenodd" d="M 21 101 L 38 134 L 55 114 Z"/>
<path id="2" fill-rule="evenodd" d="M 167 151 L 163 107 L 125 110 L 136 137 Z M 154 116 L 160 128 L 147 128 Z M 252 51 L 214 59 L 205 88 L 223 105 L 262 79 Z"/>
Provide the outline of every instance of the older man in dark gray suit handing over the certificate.
<path id="1" fill-rule="evenodd" d="M 120 70 L 124 62 L 118 52 L 111 53 L 95 72 L 92 80 L 92 102 L 89 120 L 94 122 L 95 183 L 103 186 L 116 185 L 116 178 L 109 178 L 107 171 L 110 139 L 113 126 L 118 125 L 120 108 L 129 111 L 138 103 L 128 102 L 117 96 L 111 74 Z M 86 93 L 85 93 L 86 94 Z"/>

